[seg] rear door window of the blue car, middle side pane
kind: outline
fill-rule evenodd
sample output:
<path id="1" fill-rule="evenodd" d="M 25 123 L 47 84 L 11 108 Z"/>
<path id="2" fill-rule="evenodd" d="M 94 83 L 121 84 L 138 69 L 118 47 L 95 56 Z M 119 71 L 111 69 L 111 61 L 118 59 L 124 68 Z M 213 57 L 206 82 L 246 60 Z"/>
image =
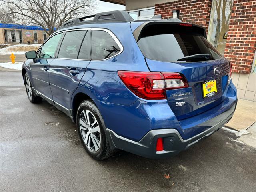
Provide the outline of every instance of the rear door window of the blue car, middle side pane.
<path id="1" fill-rule="evenodd" d="M 86 30 L 66 32 L 58 58 L 76 59 Z"/>

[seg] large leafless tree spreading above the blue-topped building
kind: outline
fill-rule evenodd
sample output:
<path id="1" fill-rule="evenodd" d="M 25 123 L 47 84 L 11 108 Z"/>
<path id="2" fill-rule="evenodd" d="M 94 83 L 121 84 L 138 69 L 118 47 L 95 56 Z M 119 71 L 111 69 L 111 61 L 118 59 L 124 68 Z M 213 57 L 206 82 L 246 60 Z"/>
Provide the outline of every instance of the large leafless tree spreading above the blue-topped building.
<path id="1" fill-rule="evenodd" d="M 16 14 L 26 23 L 42 26 L 48 35 L 54 32 L 54 27 L 59 28 L 67 20 L 88 15 L 96 6 L 94 0 L 0 1 L 0 6 L 8 10 L 8 14 Z"/>

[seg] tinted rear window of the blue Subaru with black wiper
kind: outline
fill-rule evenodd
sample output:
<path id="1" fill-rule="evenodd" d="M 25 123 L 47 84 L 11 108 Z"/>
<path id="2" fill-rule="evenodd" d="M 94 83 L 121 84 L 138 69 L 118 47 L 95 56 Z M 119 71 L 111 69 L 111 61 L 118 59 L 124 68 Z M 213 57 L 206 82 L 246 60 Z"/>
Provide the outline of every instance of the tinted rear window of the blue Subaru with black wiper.
<path id="1" fill-rule="evenodd" d="M 177 24 L 144 28 L 138 46 L 146 58 L 164 62 L 196 62 L 221 58 L 200 32 Z"/>

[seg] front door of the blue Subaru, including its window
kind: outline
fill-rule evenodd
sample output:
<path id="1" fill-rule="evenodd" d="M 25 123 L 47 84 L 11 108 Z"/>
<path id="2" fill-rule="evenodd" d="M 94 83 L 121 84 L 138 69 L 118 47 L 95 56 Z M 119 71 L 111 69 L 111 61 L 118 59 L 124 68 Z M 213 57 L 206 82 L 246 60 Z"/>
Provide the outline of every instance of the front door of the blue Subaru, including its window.
<path id="1" fill-rule="evenodd" d="M 54 60 L 54 53 L 62 33 L 52 36 L 37 52 L 36 62 L 31 65 L 32 84 L 34 89 L 48 101 L 52 100 L 49 84 L 49 65 Z"/>

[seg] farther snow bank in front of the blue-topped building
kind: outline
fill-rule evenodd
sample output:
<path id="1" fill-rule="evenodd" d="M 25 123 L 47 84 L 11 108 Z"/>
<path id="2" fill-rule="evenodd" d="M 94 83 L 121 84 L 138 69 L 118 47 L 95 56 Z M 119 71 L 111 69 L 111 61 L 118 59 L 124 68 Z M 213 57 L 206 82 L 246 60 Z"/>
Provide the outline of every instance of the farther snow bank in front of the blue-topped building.
<path id="1" fill-rule="evenodd" d="M 17 44 L 17 45 L 12 45 L 12 46 L 8 46 L 8 47 L 4 47 L 0 49 L 0 54 L 6 54 L 6 55 L 10 55 L 10 54 L 16 54 L 16 55 L 22 55 L 25 54 L 27 51 L 32 51 L 32 50 L 38 50 L 38 48 L 41 46 L 42 44 Z"/>

